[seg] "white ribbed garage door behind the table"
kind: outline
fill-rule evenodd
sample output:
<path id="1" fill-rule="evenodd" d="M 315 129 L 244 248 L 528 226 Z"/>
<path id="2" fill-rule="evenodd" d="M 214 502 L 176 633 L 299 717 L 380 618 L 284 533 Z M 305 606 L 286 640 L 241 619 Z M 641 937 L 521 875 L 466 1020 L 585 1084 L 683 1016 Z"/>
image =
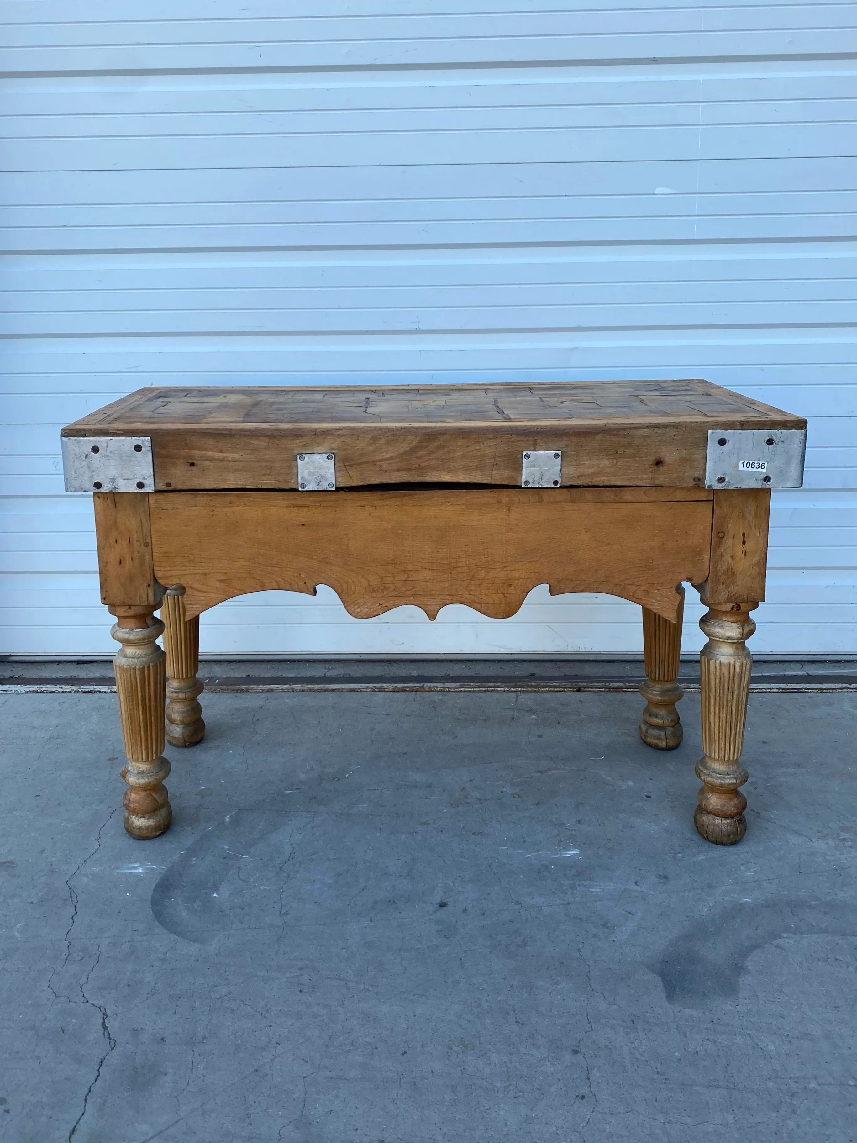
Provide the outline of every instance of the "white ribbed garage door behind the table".
<path id="1" fill-rule="evenodd" d="M 856 649 L 857 7 L 0 9 L 0 650 L 113 649 L 58 430 L 130 390 L 684 376 L 810 418 L 753 649 Z M 504 622 L 326 589 L 203 617 L 226 654 L 640 641 L 632 605 L 545 588 Z"/>

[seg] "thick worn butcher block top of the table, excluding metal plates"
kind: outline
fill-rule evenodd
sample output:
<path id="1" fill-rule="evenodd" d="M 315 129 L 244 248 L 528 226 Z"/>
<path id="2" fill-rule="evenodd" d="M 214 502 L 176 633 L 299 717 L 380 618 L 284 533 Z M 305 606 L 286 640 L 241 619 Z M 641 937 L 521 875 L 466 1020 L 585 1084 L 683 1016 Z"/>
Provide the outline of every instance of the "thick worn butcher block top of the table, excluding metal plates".
<path id="1" fill-rule="evenodd" d="M 710 430 L 806 424 L 707 381 L 211 386 L 141 389 L 63 437 L 151 438 L 157 490 L 297 488 L 321 453 L 337 489 L 520 487 L 522 453 L 552 449 L 563 486 L 702 488 Z"/>

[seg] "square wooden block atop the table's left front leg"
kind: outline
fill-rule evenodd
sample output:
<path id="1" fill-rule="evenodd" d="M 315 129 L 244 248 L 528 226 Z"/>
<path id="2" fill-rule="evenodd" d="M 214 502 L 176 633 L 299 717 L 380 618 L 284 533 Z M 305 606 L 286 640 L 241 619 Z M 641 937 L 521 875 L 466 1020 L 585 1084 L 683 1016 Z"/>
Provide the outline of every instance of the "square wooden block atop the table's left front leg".
<path id="1" fill-rule="evenodd" d="M 152 562 L 147 493 L 95 493 L 95 533 L 102 602 L 154 607 L 159 599 Z"/>

